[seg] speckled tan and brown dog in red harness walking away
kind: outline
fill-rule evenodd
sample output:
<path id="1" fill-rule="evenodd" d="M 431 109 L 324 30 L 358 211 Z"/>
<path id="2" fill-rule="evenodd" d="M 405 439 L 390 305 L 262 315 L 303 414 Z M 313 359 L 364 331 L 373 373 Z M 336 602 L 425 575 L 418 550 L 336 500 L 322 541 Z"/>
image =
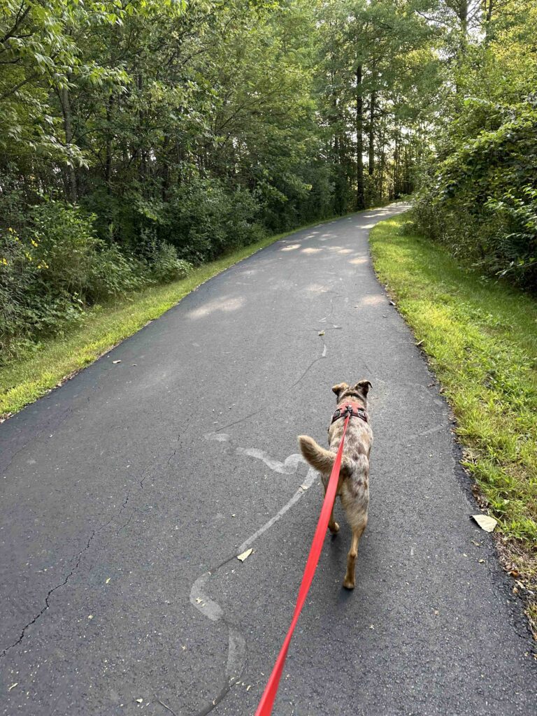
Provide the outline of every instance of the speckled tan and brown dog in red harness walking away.
<path id="1" fill-rule="evenodd" d="M 346 589 L 354 589 L 355 566 L 358 555 L 358 543 L 367 525 L 367 507 L 369 505 L 369 453 L 373 443 L 373 432 L 367 414 L 367 393 L 371 383 L 360 380 L 353 386 L 347 383 L 334 385 L 332 390 L 337 396 L 337 410 L 332 416 L 328 429 L 329 450 L 321 448 L 308 435 L 299 435 L 299 445 L 307 463 L 321 473 L 324 494 L 328 487 L 330 473 L 334 467 L 336 453 L 343 435 L 343 426 L 347 412 L 352 410 L 342 456 L 342 467 L 337 483 L 337 495 L 352 529 L 351 548 L 347 554 L 347 573 L 343 581 Z M 346 406 L 351 406 L 347 408 Z M 328 524 L 332 534 L 339 532 L 334 520 L 334 508 Z"/>

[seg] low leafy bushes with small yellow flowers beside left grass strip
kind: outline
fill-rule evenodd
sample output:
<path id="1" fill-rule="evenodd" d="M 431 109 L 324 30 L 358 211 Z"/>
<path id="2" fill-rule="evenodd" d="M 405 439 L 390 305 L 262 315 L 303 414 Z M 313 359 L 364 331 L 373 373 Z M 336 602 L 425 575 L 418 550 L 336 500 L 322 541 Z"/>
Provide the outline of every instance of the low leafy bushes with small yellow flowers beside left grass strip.
<path id="1" fill-rule="evenodd" d="M 2 362 L 82 320 L 87 306 L 190 272 L 166 243 L 148 246 L 144 256 L 107 246 L 94 221 L 80 208 L 49 200 L 34 208 L 24 233 L 1 231 Z"/>

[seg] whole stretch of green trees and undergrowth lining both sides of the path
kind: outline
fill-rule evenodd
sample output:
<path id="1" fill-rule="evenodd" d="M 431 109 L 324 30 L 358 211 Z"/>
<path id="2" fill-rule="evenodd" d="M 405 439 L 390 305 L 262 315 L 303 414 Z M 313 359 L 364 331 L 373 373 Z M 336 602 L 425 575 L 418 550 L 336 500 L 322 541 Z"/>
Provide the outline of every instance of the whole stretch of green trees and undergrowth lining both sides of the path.
<path id="1" fill-rule="evenodd" d="M 535 289 L 536 21 L 529 0 L 3 0 L 1 344 L 415 191 L 427 236 Z"/>

